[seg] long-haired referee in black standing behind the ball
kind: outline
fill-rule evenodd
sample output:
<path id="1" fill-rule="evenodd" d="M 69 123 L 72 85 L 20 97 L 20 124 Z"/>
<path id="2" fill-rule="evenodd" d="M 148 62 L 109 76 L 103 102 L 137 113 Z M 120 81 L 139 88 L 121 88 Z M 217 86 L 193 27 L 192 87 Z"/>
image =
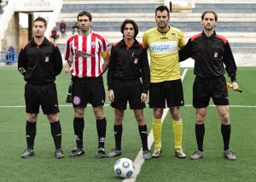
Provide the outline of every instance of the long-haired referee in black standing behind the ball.
<path id="1" fill-rule="evenodd" d="M 143 145 L 143 158 L 151 159 L 148 151 L 148 129 L 143 115 L 148 97 L 150 74 L 147 49 L 136 40 L 138 27 L 134 20 L 125 20 L 121 25 L 123 39 L 114 43 L 108 67 L 108 98 L 114 108 L 113 133 L 115 148 L 108 157 L 121 155 L 123 119 L 127 101 L 134 111 Z M 142 81 L 140 78 L 142 77 Z"/>

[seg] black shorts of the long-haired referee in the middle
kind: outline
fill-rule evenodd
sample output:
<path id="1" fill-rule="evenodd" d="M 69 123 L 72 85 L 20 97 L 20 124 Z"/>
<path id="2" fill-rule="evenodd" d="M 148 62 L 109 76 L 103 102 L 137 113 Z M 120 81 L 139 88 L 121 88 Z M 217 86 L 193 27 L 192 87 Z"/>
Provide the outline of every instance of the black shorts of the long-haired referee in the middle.
<path id="1" fill-rule="evenodd" d="M 114 82 L 114 102 L 111 103 L 111 106 L 119 110 L 126 110 L 127 101 L 129 101 L 131 110 L 145 108 L 145 103 L 141 102 L 142 90 L 143 85 L 140 80 L 134 82 Z"/>

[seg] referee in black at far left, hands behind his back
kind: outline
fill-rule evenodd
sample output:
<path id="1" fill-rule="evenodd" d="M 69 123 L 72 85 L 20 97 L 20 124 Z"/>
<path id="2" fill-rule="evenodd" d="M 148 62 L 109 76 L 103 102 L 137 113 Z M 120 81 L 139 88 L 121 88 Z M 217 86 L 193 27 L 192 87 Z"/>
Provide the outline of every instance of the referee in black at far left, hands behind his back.
<path id="1" fill-rule="evenodd" d="M 39 106 L 50 123 L 51 134 L 55 143 L 55 157 L 63 158 L 61 150 L 61 123 L 58 117 L 59 106 L 55 77 L 61 73 L 62 58 L 60 49 L 55 43 L 44 37 L 46 20 L 38 17 L 33 22 L 31 41 L 20 50 L 18 69 L 24 76 L 26 100 L 26 151 L 22 158 L 34 156 L 34 139 Z"/>

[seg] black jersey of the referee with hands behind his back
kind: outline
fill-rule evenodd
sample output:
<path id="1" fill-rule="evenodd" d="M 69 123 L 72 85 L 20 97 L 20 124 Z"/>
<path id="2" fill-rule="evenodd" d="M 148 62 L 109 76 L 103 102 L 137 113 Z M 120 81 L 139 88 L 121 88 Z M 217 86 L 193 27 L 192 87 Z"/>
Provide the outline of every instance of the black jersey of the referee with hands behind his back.
<path id="1" fill-rule="evenodd" d="M 38 85 L 54 82 L 62 70 L 60 49 L 46 37 L 40 45 L 32 38 L 20 50 L 18 69 L 26 82 Z"/>

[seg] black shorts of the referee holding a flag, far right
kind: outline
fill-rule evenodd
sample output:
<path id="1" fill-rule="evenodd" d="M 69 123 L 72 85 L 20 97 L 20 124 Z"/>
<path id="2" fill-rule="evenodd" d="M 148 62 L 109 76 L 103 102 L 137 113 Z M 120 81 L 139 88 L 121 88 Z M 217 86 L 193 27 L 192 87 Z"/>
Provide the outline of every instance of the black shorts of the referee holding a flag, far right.
<path id="1" fill-rule="evenodd" d="M 214 105 L 229 105 L 229 95 L 225 77 L 205 79 L 195 77 L 193 85 L 193 106 L 204 108 L 212 97 Z"/>

